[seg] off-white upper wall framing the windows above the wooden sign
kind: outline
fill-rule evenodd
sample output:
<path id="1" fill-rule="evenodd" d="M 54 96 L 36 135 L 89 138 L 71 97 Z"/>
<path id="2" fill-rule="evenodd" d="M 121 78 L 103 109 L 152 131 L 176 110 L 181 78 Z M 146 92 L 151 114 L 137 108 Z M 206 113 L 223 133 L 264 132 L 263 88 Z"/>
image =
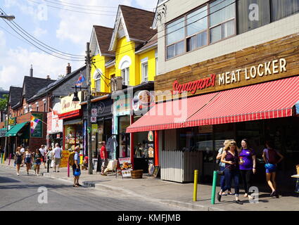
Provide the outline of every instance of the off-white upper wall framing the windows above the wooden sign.
<path id="1" fill-rule="evenodd" d="M 163 15 L 161 21 L 158 21 L 158 75 L 299 32 L 298 13 L 255 30 L 239 34 L 236 37 L 206 46 L 203 49 L 198 49 L 197 51 L 165 61 L 165 23 L 191 11 L 193 8 L 201 6 L 205 2 L 207 1 L 170 0 L 165 3 L 167 6 L 166 13 Z"/>

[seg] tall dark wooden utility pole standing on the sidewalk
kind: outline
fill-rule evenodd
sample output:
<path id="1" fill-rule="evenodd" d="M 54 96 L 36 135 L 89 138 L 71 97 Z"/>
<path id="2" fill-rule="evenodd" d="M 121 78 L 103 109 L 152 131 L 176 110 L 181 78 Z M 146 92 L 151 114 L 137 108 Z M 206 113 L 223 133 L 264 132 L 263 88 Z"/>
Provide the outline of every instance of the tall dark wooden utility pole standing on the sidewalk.
<path id="1" fill-rule="evenodd" d="M 92 170 L 92 149 L 91 149 L 91 81 L 90 81 L 90 50 L 89 42 L 87 42 L 87 148 L 88 148 L 88 174 L 93 174 Z"/>

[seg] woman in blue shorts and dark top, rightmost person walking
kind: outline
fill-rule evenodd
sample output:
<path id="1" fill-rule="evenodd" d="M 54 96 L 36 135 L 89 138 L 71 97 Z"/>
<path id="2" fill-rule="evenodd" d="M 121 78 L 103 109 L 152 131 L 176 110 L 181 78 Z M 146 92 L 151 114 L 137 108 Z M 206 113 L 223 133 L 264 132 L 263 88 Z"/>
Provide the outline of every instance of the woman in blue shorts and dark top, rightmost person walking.
<path id="1" fill-rule="evenodd" d="M 265 145 L 266 148 L 262 152 L 262 158 L 266 162 L 265 169 L 267 184 L 272 190 L 270 196 L 279 198 L 279 194 L 276 192 L 276 170 L 277 164 L 284 159 L 284 156 L 274 149 L 274 143 L 272 141 L 266 141 Z"/>

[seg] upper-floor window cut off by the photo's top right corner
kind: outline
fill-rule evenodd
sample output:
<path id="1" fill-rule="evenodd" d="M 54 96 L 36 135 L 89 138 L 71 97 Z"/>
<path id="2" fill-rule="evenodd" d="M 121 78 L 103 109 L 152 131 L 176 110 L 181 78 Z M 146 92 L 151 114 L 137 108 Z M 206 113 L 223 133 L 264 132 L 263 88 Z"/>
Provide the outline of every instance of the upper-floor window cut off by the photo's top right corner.
<path id="1" fill-rule="evenodd" d="M 280 20 L 299 11 L 299 0 L 271 0 L 271 19 Z"/>

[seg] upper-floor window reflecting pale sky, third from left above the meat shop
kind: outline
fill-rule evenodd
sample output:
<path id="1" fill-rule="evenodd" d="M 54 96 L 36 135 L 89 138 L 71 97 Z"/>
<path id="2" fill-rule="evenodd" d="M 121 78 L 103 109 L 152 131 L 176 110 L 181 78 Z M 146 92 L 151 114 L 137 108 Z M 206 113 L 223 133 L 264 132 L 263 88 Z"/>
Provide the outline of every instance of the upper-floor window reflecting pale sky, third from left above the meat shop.
<path id="1" fill-rule="evenodd" d="M 217 0 L 210 4 L 210 43 L 231 37 L 236 33 L 236 3 Z"/>

